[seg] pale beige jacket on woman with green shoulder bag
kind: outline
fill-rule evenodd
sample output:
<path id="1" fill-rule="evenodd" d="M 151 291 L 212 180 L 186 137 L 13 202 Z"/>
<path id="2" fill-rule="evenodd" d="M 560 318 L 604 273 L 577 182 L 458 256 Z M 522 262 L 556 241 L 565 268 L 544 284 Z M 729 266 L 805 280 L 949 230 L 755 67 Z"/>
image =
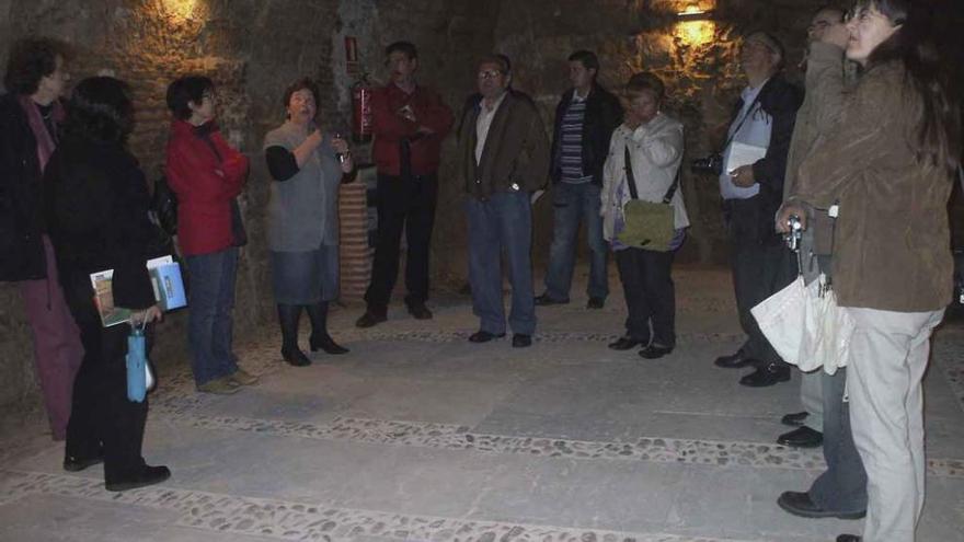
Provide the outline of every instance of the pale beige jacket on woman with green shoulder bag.
<path id="1" fill-rule="evenodd" d="M 632 130 L 620 125 L 612 131 L 609 157 L 602 168 L 602 237 L 612 241 L 616 220 L 622 217 L 626 204 L 631 199 L 626 175 L 626 148 L 629 147 L 633 178 L 640 199 L 662 201 L 679 172 L 682 161 L 682 125 L 664 114 L 658 114 L 644 126 Z M 682 188 L 677 186 L 669 204 L 674 210 L 676 229 L 689 226 Z"/>

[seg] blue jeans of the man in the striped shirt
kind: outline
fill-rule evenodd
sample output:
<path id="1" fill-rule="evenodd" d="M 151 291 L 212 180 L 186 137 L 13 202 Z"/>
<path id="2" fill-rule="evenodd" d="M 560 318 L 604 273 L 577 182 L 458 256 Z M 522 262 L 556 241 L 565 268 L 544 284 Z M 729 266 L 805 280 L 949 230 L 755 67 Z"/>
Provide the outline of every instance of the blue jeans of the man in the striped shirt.
<path id="1" fill-rule="evenodd" d="M 576 260 L 576 239 L 579 222 L 586 223 L 589 243 L 590 298 L 609 296 L 609 276 L 606 262 L 609 247 L 602 239 L 602 217 L 599 215 L 601 188 L 593 183 L 559 183 L 552 187 L 552 245 L 549 249 L 549 269 L 546 273 L 546 293 L 555 301 L 569 301 L 572 274 Z"/>

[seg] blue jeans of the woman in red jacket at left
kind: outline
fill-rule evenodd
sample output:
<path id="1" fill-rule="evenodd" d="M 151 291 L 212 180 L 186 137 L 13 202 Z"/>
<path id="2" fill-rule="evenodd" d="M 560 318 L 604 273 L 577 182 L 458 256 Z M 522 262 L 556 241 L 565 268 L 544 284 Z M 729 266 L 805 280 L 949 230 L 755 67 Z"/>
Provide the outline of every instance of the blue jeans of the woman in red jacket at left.
<path id="1" fill-rule="evenodd" d="M 238 249 L 232 246 L 185 260 L 191 272 L 187 320 L 191 368 L 194 382 L 203 385 L 238 370 L 238 358 L 231 351 Z"/>

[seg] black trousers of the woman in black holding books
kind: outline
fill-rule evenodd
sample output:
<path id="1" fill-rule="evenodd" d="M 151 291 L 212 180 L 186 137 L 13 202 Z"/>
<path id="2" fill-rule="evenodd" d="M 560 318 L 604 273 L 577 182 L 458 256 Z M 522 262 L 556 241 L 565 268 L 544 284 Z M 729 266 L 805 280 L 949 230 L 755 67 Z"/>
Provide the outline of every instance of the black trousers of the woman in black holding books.
<path id="1" fill-rule="evenodd" d="M 127 480 L 144 465 L 141 445 L 148 408 L 147 399 L 142 403 L 127 400 L 125 356 L 130 327 L 101 324 L 87 274 L 61 275 L 61 282 L 84 349 L 73 381 L 66 452 L 76 458 L 90 458 L 103 446 L 104 478 L 107 482 Z"/>

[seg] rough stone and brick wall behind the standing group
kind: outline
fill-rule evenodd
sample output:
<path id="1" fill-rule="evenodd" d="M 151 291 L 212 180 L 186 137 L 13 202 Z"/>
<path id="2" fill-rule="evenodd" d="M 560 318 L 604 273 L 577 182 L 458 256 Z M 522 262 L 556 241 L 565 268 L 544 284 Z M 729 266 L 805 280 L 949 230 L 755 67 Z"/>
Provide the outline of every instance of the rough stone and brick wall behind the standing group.
<path id="1" fill-rule="evenodd" d="M 475 60 L 495 50 L 512 57 L 515 87 L 531 94 L 547 131 L 559 95 L 569 87 L 566 57 L 596 50 L 600 81 L 610 89 L 640 70 L 667 82 L 667 109 L 687 127 L 687 162 L 722 142 L 727 117 L 745 84 L 736 67 L 738 36 L 765 28 L 789 47 L 791 76 L 805 27 L 823 0 L 0 0 L 0 62 L 13 38 L 43 34 L 77 49 L 74 80 L 99 72 L 129 81 L 138 127 L 131 149 L 151 180 L 161 174 L 168 112 L 163 93 L 176 76 L 200 72 L 219 85 L 220 123 L 228 139 L 252 159 L 243 195 L 250 244 L 239 275 L 238 336 L 273 321 L 264 209 L 268 181 L 261 140 L 284 118 L 284 88 L 300 76 L 319 80 L 321 124 L 346 130 L 349 88 L 360 72 L 385 81 L 383 47 L 397 39 L 420 49 L 420 81 L 438 90 L 459 113 L 474 91 Z M 712 20 L 680 22 L 689 7 L 711 9 Z M 358 44 L 348 66 L 344 38 Z M 4 62 L 5 64 L 5 62 Z M 366 155 L 366 148 L 358 147 Z M 444 146 L 433 245 L 435 285 L 466 279 L 466 223 L 455 182 L 455 138 Z M 716 183 L 684 171 L 682 194 L 692 221 L 680 261 L 725 261 Z M 536 207 L 537 284 L 551 238 L 550 197 Z M 615 286 L 615 285 L 613 285 Z M 173 314 L 159 334 L 161 359 L 185 358 L 185 314 Z M 20 297 L 0 285 L 0 408 L 37 404 L 30 331 Z"/>

